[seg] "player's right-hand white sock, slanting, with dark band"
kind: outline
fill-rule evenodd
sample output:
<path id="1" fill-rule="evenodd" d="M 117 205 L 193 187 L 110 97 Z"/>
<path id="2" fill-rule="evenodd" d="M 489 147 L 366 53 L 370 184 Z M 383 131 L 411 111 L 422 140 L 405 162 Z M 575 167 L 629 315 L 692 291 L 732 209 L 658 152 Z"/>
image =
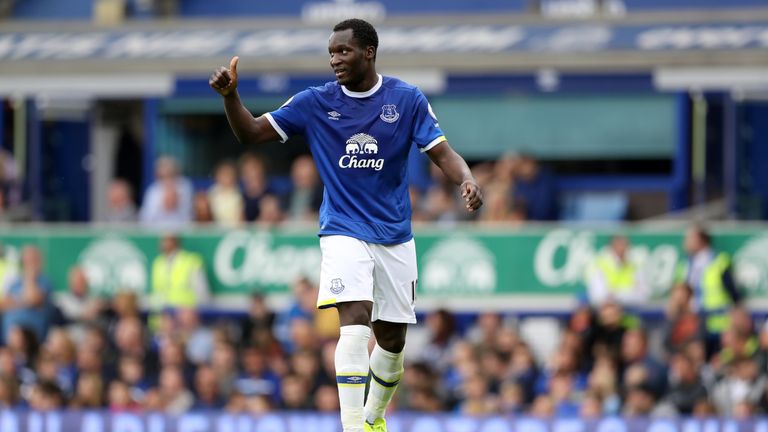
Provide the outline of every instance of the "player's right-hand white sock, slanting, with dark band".
<path id="1" fill-rule="evenodd" d="M 371 385 L 365 402 L 365 420 L 368 423 L 373 424 L 377 418 L 384 417 L 402 376 L 403 352 L 392 353 L 376 344 L 371 353 Z"/>

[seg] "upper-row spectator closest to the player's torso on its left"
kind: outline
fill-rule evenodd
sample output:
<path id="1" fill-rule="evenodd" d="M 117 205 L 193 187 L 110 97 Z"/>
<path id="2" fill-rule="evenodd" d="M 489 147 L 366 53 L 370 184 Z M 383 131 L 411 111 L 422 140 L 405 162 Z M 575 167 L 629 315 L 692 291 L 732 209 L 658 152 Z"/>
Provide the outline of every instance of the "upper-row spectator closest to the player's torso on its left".
<path id="1" fill-rule="evenodd" d="M 323 185 L 317 175 L 315 162 L 310 155 L 297 157 L 291 165 L 290 193 L 284 198 L 286 220 L 309 222 L 317 219 L 323 201 Z"/>

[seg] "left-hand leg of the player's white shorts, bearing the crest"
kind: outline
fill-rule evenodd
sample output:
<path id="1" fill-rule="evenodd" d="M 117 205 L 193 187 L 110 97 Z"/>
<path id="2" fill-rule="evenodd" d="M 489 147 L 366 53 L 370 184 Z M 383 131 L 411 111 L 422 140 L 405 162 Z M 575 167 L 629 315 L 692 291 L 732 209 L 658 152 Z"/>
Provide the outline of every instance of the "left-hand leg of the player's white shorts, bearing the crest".
<path id="1" fill-rule="evenodd" d="M 320 252 L 317 307 L 373 301 L 373 256 L 365 242 L 347 236 L 323 236 Z"/>

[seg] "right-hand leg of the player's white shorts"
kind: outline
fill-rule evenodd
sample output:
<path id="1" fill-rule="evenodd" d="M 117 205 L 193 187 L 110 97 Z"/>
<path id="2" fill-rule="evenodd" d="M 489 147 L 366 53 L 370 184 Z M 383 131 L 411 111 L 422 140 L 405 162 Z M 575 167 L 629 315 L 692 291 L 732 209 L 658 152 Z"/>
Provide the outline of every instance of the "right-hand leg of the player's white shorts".
<path id="1" fill-rule="evenodd" d="M 374 255 L 373 321 L 416 323 L 416 244 L 372 245 Z"/>

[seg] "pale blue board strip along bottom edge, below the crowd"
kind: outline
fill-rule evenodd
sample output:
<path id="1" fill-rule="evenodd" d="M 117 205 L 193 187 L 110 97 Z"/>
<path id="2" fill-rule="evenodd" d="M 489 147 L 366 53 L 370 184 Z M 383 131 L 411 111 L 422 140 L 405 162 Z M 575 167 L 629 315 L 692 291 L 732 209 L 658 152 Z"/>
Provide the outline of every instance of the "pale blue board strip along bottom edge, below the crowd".
<path id="1" fill-rule="evenodd" d="M 486 417 L 399 414 L 387 418 L 393 432 L 768 432 L 768 420 Z M 3 411 L 3 432 L 327 432 L 339 430 L 338 414 L 231 415 L 215 412 L 179 416 L 109 412 L 37 413 Z"/>

